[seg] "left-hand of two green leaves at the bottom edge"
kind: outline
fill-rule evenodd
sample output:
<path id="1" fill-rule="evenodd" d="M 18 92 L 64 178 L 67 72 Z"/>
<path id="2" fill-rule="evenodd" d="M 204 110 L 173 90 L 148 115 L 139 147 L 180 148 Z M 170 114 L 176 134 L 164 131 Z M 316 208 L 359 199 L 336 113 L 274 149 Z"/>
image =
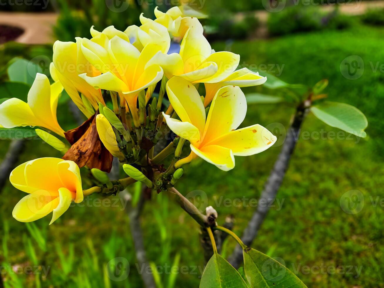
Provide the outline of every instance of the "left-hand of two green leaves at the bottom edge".
<path id="1" fill-rule="evenodd" d="M 248 287 L 238 271 L 219 254 L 209 259 L 201 276 L 200 288 L 207 287 Z"/>

